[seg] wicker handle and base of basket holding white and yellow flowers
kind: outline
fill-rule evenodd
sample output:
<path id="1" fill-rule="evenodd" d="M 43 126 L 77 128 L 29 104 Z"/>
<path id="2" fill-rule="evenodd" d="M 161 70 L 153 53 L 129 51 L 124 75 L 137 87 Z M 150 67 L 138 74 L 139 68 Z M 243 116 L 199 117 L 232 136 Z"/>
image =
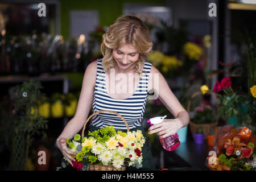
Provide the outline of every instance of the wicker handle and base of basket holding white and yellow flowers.
<path id="1" fill-rule="evenodd" d="M 105 113 L 105 112 L 109 112 L 109 113 L 114 113 L 116 115 L 118 115 L 121 119 L 123 119 L 123 122 L 125 123 L 126 127 L 127 127 L 127 132 L 129 132 L 129 126 L 127 125 L 127 122 L 125 121 L 125 118 L 122 117 L 122 115 L 118 114 L 115 111 L 110 111 L 110 110 L 99 110 L 96 111 L 95 113 L 93 113 L 92 115 L 90 115 L 85 123 L 84 123 L 84 127 L 82 128 L 82 139 L 84 138 L 84 130 L 85 130 L 85 126 L 86 123 L 88 123 L 89 119 L 92 118 L 94 115 L 98 114 L 98 113 Z M 121 169 L 117 169 L 112 165 L 108 165 L 108 166 L 102 166 L 101 164 L 93 164 L 93 165 L 89 165 L 89 171 L 125 171 L 126 166 L 123 165 Z"/>

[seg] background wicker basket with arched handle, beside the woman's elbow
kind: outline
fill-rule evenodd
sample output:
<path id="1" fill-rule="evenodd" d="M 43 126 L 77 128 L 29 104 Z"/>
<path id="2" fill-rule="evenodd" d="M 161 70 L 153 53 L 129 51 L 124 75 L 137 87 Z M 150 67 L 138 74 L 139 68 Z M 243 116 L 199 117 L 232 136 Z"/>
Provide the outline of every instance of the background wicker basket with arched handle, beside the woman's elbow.
<path id="1" fill-rule="evenodd" d="M 193 98 L 195 98 L 196 96 L 202 94 L 202 92 L 196 92 L 191 96 L 191 100 Z M 212 92 L 209 92 L 209 94 L 212 94 L 213 98 L 217 101 L 217 97 L 215 94 L 213 94 Z M 190 112 L 191 109 L 191 100 L 188 101 L 188 107 L 187 107 L 187 111 L 188 113 Z M 199 127 L 203 127 L 203 133 L 205 134 L 205 138 L 206 135 L 210 133 L 210 129 L 211 128 L 215 128 L 218 125 L 218 117 L 219 117 L 219 110 L 218 107 L 216 109 L 216 121 L 214 123 L 202 123 L 202 124 L 197 124 L 197 123 L 193 123 L 192 121 L 189 122 L 189 129 L 191 130 L 191 133 L 196 133 L 196 131 L 199 129 Z"/>

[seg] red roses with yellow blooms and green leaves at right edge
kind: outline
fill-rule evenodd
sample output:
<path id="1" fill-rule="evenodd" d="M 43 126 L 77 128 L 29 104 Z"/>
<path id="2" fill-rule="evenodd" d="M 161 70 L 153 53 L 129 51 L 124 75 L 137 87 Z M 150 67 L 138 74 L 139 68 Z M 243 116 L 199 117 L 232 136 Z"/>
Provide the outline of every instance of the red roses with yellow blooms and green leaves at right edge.
<path id="1" fill-rule="evenodd" d="M 221 82 L 217 81 L 213 90 L 209 90 L 207 85 L 201 86 L 200 89 L 203 94 L 216 93 L 222 119 L 228 119 L 229 124 L 249 126 L 255 131 L 255 85 L 250 88 L 251 95 L 248 96 L 234 92 L 230 77 L 222 78 Z"/>

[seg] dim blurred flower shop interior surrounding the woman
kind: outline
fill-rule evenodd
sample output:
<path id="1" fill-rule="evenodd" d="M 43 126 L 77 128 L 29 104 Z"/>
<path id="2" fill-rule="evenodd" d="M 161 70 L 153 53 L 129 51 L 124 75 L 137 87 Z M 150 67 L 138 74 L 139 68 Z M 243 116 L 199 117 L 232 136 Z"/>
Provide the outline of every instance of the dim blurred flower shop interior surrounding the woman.
<path id="1" fill-rule="evenodd" d="M 156 170 L 255 171 L 255 0 L 1 0 L 0 170 L 65 165 L 56 139 L 76 112 L 86 67 L 102 58 L 102 35 L 121 15 L 147 26 L 147 61 L 189 113 L 180 146 L 167 151 L 147 134 L 147 119 L 174 116 L 159 98 L 147 100 L 142 126 Z"/>

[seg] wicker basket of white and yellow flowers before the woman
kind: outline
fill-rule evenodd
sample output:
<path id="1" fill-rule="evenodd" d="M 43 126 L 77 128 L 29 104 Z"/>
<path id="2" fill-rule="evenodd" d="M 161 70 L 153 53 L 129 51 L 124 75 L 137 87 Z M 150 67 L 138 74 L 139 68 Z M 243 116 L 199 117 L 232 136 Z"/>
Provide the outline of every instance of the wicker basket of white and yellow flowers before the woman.
<path id="1" fill-rule="evenodd" d="M 93 115 L 101 112 L 105 110 L 97 111 Z M 109 112 L 119 115 L 114 111 Z M 119 117 L 122 118 L 121 115 Z M 73 168 L 78 171 L 124 171 L 126 166 L 141 168 L 143 159 L 141 151 L 145 138 L 141 130 L 129 131 L 125 119 L 122 119 L 126 124 L 127 133 L 116 131 L 113 126 L 107 126 L 93 132 L 89 131 L 88 137 L 84 137 L 84 125 L 82 136 L 76 134 L 72 140 L 67 138 L 69 150 L 76 153 L 73 156 L 76 159 L 76 162 L 72 162 Z M 61 167 L 65 168 L 67 164 L 66 160 Z"/>

